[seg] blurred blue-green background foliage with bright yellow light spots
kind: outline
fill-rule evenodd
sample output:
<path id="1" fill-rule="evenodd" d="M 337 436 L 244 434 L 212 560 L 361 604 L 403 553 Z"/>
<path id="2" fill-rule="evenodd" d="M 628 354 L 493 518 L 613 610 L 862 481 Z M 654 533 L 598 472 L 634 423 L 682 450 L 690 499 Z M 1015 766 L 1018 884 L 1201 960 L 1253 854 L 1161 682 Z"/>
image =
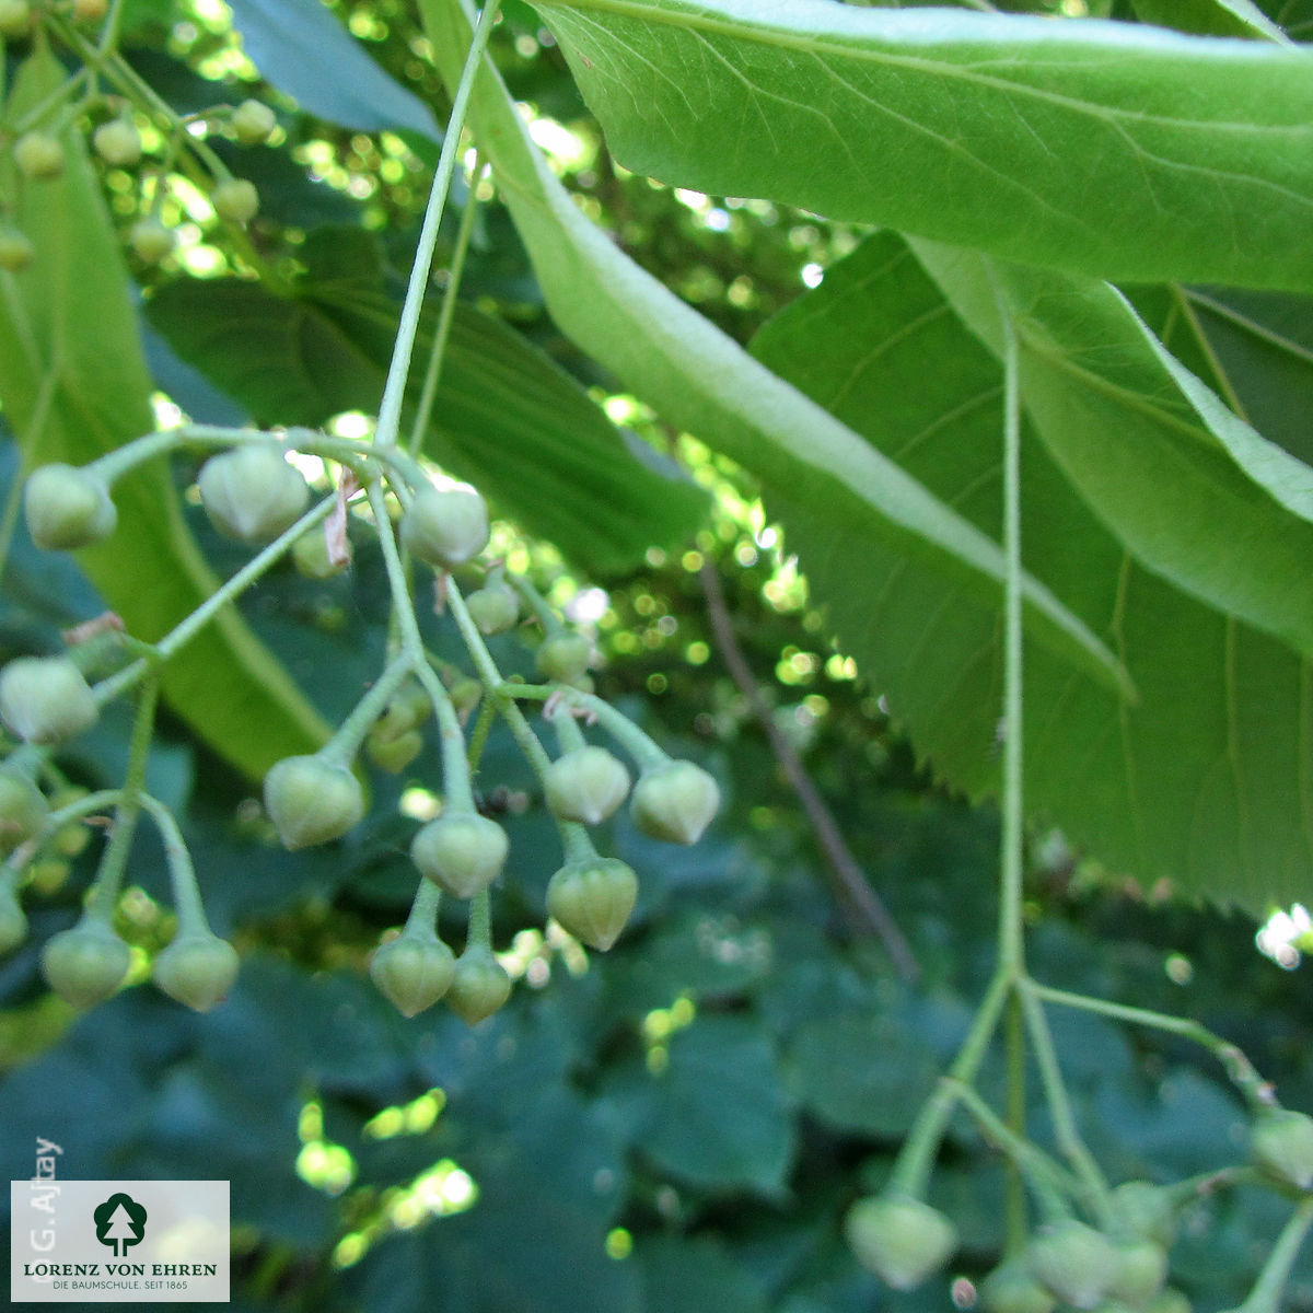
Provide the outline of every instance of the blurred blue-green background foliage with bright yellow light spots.
<path id="1" fill-rule="evenodd" d="M 580 206 L 734 337 L 747 341 L 851 249 L 853 232 L 813 215 L 672 190 L 616 167 L 533 12 L 520 0 L 504 9 L 498 64 Z M 126 0 L 125 50 L 183 113 L 252 95 L 276 106 L 269 146 L 218 148 L 259 184 L 251 238 L 282 277 L 312 267 L 316 242 L 361 228 L 374 234 L 395 295 L 436 159 L 441 84 L 408 5 L 337 5 L 335 21 L 391 88 L 393 121 L 411 125 L 383 130 L 352 79 L 298 80 L 298 62 L 312 71 L 314 47 L 269 42 L 270 21 L 289 13 L 311 11 Z M 268 83 L 243 38 L 264 42 Z M 126 232 L 143 204 L 137 180 L 106 169 L 104 181 Z M 186 316 L 158 309 L 181 295 L 204 315 L 205 281 L 240 269 L 240 252 L 185 186 L 171 190 L 165 218 L 181 226 L 177 260 L 134 267 L 161 412 L 240 421 L 251 397 L 221 391 L 185 364 L 176 323 Z M 460 205 L 440 264 L 458 218 Z M 165 285 L 175 290 L 161 294 Z M 931 1195 L 964 1238 L 948 1278 L 911 1295 L 877 1289 L 838 1220 L 881 1184 L 987 979 L 994 814 L 968 809 L 919 767 L 877 691 L 826 639 L 825 617 L 750 482 L 616 394 L 553 328 L 495 200 L 481 211 L 462 295 L 713 494 L 696 537 L 600 579 L 512 521 L 498 532 L 595 632 L 599 692 L 721 780 L 721 818 L 687 851 L 646 840 L 624 817 L 613 823 L 604 838 L 639 871 L 642 894 L 621 943 L 588 953 L 544 931 L 555 840 L 509 737 L 494 731 L 478 783 L 512 840 L 494 928 L 517 987 L 473 1031 L 441 1006 L 406 1022 L 373 990 L 366 962 L 410 905 L 406 848 L 440 777 L 432 746 L 399 779 L 373 772 L 370 817 L 345 840 L 288 855 L 252 783 L 165 720 L 150 786 L 183 821 L 214 928 L 242 949 L 239 983 L 205 1018 L 148 983 L 87 1016 L 50 995 L 39 945 L 76 919 L 98 852 L 98 840 L 80 848 L 70 836 L 67 853 L 32 873 L 29 944 L 0 962 L 5 1174 L 29 1176 L 43 1136 L 62 1144 L 67 1175 L 231 1180 L 238 1309 L 867 1313 L 943 1309 L 955 1279 L 953 1299 L 969 1306 L 960 1279 L 997 1259 L 1003 1178 L 965 1120 Z M 5 461 L 11 483 L 12 446 Z M 230 572 L 242 557 L 188 499 L 194 473 L 175 465 L 190 527 Z M 773 737 L 731 678 L 708 572 Z M 62 629 L 101 609 L 71 562 L 35 551 L 17 530 L 0 655 L 53 650 Z M 349 575 L 310 582 L 277 571 L 243 612 L 330 721 L 379 668 L 387 591 L 364 534 Z M 448 626 L 431 617 L 429 628 L 435 650 L 458 660 Z M 530 668 L 528 642 L 498 642 L 504 668 Z M 77 741 L 62 758 L 70 781 L 117 784 L 129 729 L 119 708 Z M 863 905 L 832 874 L 781 768 L 781 739 L 906 936 L 916 979 L 899 976 Z M 172 924 L 151 834 L 137 840 L 130 878 L 119 922 L 140 949 L 144 979 Z M 1243 918 L 1184 906 L 1170 890 L 1146 901 L 1060 835 L 1033 838 L 1027 910 L 1040 979 L 1194 1016 L 1242 1045 L 1287 1106 L 1313 1106 L 1313 997 L 1292 939 L 1302 923 L 1281 923 L 1289 932 L 1270 934 L 1264 956 Z M 453 943 L 460 918 L 444 909 Z M 1199 1050 L 1090 1015 L 1053 1020 L 1082 1124 L 1112 1179 L 1178 1179 L 1242 1155 L 1243 1108 Z M 1002 1073 L 982 1083 L 997 1092 Z M 1031 1087 L 1043 1141 L 1046 1115 Z M 1279 1225 L 1267 1194 L 1200 1205 L 1174 1250 L 1174 1281 L 1203 1310 L 1238 1302 Z M 1313 1264 L 1289 1306 L 1313 1309 Z"/>

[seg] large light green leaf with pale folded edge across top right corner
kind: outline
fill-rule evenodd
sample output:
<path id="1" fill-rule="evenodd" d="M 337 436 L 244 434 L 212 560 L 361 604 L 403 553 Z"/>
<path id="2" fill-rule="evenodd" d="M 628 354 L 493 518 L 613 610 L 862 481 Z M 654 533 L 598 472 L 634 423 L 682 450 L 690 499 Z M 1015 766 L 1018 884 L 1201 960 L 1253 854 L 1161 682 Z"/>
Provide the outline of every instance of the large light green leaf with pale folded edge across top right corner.
<path id="1" fill-rule="evenodd" d="M 1113 280 L 1313 286 L 1313 53 L 827 0 L 545 0 L 616 156 Z"/>

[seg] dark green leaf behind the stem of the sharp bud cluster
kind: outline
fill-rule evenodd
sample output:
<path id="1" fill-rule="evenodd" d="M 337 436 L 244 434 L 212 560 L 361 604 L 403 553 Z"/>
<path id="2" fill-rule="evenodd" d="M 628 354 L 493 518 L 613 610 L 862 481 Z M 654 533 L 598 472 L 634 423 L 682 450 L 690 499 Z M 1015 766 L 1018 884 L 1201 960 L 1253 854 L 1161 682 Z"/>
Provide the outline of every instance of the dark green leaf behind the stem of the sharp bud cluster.
<path id="1" fill-rule="evenodd" d="M 341 411 L 373 412 L 398 307 L 364 280 L 303 293 L 189 280 L 161 288 L 147 314 L 257 423 L 314 427 Z M 420 360 L 431 341 L 432 316 Z M 591 571 L 622 570 L 653 544 L 685 540 L 705 513 L 696 484 L 643 463 L 574 379 L 473 306 L 457 309 L 433 415 L 429 456 Z"/>

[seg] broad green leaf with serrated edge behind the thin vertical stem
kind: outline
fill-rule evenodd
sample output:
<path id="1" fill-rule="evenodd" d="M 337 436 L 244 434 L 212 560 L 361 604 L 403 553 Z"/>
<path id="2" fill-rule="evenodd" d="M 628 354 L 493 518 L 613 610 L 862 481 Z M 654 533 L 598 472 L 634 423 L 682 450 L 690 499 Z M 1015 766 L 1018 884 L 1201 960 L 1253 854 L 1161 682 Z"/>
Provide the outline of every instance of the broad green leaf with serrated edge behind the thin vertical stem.
<path id="1" fill-rule="evenodd" d="M 831 268 L 754 351 L 982 530 L 999 532 L 999 365 L 897 236 L 872 238 Z M 1145 885 L 1170 877 L 1254 911 L 1302 897 L 1313 871 L 1313 671 L 1137 565 L 1029 431 L 1022 469 L 1023 558 L 1111 635 L 1140 695 L 1119 705 L 1028 646 L 1028 810 Z M 796 517 L 779 495 L 768 509 L 918 751 L 969 794 L 997 789 L 997 613 L 893 553 L 867 550 L 856 570 L 842 532 Z"/>

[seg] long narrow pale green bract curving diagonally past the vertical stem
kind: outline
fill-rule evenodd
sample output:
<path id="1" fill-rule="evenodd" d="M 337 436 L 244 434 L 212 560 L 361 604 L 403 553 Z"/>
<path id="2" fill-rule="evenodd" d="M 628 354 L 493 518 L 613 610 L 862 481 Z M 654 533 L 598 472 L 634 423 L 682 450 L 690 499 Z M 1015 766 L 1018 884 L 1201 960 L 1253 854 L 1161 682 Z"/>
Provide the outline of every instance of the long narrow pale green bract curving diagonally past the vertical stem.
<path id="1" fill-rule="evenodd" d="M 460 0 L 424 0 L 421 13 L 440 71 L 454 83 L 469 45 Z M 928 563 L 964 595 L 1001 605 L 997 542 L 618 251 L 551 175 L 491 68 L 475 81 L 471 116 L 551 315 L 580 348 L 666 420 L 786 492 L 818 528 L 836 528 L 850 559 L 868 549 L 897 551 Z M 1035 638 L 1107 683 L 1121 681 L 1106 646 L 1029 576 L 1025 600 Z"/>

